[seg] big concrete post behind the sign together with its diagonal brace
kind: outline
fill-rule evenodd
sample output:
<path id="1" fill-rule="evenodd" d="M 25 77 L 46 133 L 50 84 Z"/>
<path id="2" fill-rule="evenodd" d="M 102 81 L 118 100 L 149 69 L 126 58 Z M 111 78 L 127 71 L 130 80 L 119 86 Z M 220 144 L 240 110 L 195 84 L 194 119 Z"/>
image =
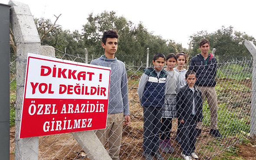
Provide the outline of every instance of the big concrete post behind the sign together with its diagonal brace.
<path id="1" fill-rule="evenodd" d="M 33 20 L 33 16 L 30 13 L 29 6 L 12 0 L 9 1 L 9 5 L 11 6 L 10 22 L 17 45 L 15 160 L 38 160 L 39 137 L 19 138 L 27 53 L 55 57 L 55 51 L 51 46 L 46 47 L 40 45 L 40 38 Z M 85 153 L 88 154 L 90 159 L 111 160 L 94 131 L 75 132 L 72 133 L 72 135 L 78 141 Z"/>

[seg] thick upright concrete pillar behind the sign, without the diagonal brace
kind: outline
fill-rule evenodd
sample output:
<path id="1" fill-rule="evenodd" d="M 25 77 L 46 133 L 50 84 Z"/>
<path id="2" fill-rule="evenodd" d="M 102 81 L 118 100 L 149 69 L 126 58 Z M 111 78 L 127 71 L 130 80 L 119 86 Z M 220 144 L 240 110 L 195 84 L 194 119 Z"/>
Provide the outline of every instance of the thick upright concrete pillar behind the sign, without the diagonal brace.
<path id="1" fill-rule="evenodd" d="M 22 115 L 23 92 L 27 53 L 39 54 L 40 38 L 29 6 L 9 1 L 10 22 L 17 46 L 16 62 L 16 121 L 15 121 L 15 160 L 37 160 L 39 138 L 19 138 Z M 29 124 L 28 124 L 29 125 Z"/>

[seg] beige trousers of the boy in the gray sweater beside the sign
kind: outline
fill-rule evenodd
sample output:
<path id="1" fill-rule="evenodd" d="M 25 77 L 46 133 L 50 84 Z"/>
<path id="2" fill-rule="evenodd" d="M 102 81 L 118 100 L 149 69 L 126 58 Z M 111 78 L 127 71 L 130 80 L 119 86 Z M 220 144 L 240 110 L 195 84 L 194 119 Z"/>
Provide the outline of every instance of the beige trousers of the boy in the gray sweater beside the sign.
<path id="1" fill-rule="evenodd" d="M 109 114 L 106 129 L 96 130 L 95 134 L 104 146 L 108 142 L 108 154 L 118 160 L 123 132 L 124 112 Z M 106 142 L 106 139 L 108 140 Z"/>

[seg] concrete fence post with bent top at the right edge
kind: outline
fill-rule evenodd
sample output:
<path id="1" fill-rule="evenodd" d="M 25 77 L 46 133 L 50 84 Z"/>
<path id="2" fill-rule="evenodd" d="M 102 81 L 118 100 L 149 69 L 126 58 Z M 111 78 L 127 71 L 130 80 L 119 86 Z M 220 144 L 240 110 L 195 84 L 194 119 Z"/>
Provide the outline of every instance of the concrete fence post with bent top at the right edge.
<path id="1" fill-rule="evenodd" d="M 244 42 L 244 45 L 253 55 L 253 82 L 252 82 L 252 100 L 251 100 L 251 122 L 250 137 L 256 139 L 256 46 L 251 41 Z"/>

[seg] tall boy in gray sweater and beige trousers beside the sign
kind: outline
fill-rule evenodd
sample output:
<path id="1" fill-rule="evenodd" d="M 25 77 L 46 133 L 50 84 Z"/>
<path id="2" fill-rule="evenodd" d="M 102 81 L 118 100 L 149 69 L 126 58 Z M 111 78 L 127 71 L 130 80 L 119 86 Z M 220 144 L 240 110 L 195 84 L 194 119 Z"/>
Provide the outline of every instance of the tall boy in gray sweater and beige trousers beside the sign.
<path id="1" fill-rule="evenodd" d="M 95 134 L 102 145 L 105 145 L 105 140 L 108 139 L 108 153 L 112 160 L 118 160 L 123 125 L 130 124 L 131 118 L 125 64 L 115 58 L 115 52 L 118 48 L 118 33 L 115 30 L 108 30 L 103 33 L 102 47 L 105 54 L 92 60 L 91 64 L 111 67 L 108 118 L 106 129 L 96 130 Z"/>

